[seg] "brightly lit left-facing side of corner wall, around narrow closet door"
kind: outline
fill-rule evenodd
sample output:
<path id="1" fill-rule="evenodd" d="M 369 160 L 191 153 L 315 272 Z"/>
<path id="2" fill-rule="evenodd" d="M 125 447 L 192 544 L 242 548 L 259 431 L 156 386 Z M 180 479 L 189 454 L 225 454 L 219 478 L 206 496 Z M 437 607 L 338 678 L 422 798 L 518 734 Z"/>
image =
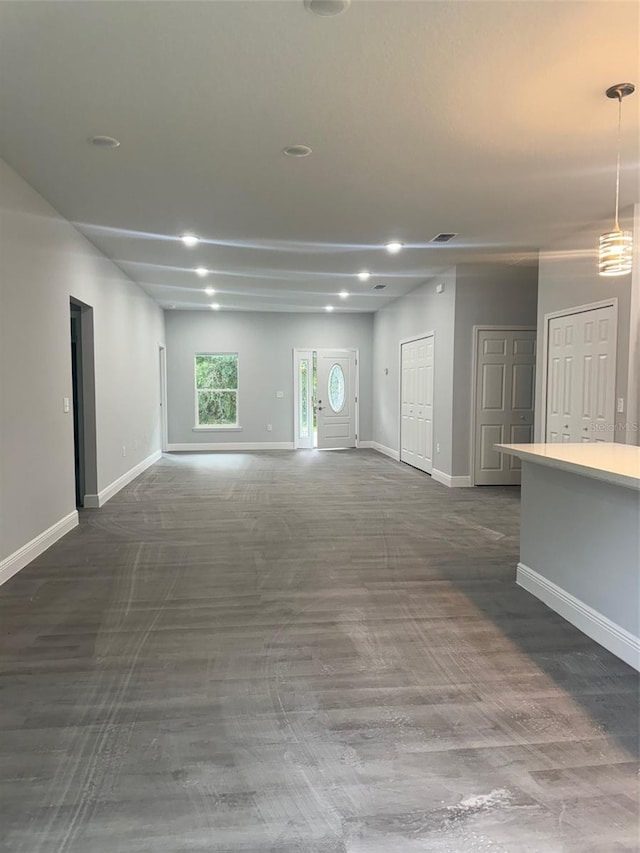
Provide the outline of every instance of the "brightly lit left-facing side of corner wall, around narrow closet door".
<path id="1" fill-rule="evenodd" d="M 442 293 L 436 290 L 438 284 L 444 285 Z M 453 470 L 455 298 L 452 268 L 382 308 L 374 315 L 373 327 L 373 439 L 394 452 L 400 447 L 400 341 L 435 332 L 433 464 L 444 474 Z"/>

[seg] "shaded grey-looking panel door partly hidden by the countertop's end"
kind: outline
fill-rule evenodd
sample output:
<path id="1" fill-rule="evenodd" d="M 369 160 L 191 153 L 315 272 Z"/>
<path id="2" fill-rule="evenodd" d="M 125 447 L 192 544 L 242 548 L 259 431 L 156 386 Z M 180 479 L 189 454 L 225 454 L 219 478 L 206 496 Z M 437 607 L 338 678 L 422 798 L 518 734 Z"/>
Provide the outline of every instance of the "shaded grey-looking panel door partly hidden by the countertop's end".
<path id="1" fill-rule="evenodd" d="M 477 347 L 474 483 L 517 485 L 520 461 L 494 445 L 533 441 L 536 333 L 483 329 Z"/>

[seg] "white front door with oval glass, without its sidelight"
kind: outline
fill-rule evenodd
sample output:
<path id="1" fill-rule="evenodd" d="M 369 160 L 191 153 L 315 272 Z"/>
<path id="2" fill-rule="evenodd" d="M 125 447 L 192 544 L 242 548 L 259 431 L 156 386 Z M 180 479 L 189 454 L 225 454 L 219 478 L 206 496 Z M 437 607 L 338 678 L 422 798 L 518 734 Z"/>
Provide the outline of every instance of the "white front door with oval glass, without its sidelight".
<path id="1" fill-rule="evenodd" d="M 317 350 L 318 447 L 356 446 L 356 353 Z"/>

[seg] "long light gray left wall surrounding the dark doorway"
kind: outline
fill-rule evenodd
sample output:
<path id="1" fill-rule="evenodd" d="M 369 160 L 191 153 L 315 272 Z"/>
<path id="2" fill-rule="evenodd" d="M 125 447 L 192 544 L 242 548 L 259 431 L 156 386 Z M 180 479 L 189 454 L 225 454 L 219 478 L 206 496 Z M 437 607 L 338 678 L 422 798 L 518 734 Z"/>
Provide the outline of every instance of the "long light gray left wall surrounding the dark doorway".
<path id="1" fill-rule="evenodd" d="M 93 308 L 100 491 L 160 448 L 164 319 L 1 160 L 0 187 L 1 563 L 75 510 L 70 298 Z"/>

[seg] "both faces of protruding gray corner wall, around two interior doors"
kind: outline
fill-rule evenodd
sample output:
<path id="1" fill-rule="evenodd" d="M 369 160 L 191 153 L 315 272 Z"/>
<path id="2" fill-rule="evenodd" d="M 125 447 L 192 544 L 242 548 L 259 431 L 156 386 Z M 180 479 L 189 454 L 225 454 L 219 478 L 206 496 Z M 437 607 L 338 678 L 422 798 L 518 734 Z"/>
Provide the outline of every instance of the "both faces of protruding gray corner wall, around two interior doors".
<path id="1" fill-rule="evenodd" d="M 438 284 L 444 284 L 443 293 L 437 292 Z M 468 476 L 473 326 L 535 326 L 536 294 L 535 267 L 459 264 L 379 311 L 374 320 L 374 440 L 398 450 L 400 341 L 433 330 L 434 468 Z"/>

